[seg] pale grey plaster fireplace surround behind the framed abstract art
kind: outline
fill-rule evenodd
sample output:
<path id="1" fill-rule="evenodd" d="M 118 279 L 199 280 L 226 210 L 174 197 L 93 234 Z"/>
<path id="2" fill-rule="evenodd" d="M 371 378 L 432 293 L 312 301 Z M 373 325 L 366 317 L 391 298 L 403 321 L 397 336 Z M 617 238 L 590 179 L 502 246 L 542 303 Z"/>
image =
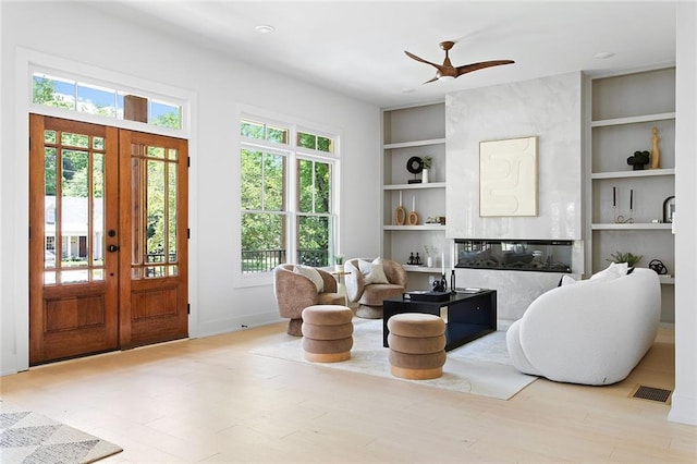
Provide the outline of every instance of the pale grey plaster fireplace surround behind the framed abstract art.
<path id="1" fill-rule="evenodd" d="M 568 244 L 570 269 L 519 270 L 455 267 L 458 286 L 496 289 L 498 314 L 518 319 L 564 274 L 584 269 L 582 222 L 582 73 L 449 94 L 445 99 L 448 239 Z M 538 212 L 531 217 L 479 216 L 479 144 L 538 137 Z M 456 246 L 455 246 L 456 247 Z M 458 253 L 453 251 L 453 262 Z"/>

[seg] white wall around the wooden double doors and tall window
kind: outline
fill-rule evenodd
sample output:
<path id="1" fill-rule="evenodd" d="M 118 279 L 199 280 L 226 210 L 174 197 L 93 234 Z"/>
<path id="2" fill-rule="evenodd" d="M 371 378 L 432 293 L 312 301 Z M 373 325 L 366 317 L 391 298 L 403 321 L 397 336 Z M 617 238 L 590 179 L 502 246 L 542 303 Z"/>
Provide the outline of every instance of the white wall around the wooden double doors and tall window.
<path id="1" fill-rule="evenodd" d="M 279 319 L 270 285 L 240 288 L 231 266 L 239 255 L 239 111 L 260 108 L 341 132 L 343 188 L 341 249 L 372 256 L 380 249 L 380 112 L 352 98 L 260 71 L 228 57 L 103 15 L 80 2 L 2 2 L 2 125 L 0 188 L 1 373 L 27 365 L 27 95 L 17 56 L 35 50 L 119 72 L 195 95 L 189 152 L 193 335 L 239 330 Z M 80 19 L 80 27 L 70 27 Z M 250 50 L 253 52 L 253 50 Z M 369 169 L 374 166 L 374 169 Z M 366 169 L 368 168 L 368 169 Z M 352 182 L 348 182 L 352 180 Z M 356 227 L 360 224 L 360 227 Z"/>

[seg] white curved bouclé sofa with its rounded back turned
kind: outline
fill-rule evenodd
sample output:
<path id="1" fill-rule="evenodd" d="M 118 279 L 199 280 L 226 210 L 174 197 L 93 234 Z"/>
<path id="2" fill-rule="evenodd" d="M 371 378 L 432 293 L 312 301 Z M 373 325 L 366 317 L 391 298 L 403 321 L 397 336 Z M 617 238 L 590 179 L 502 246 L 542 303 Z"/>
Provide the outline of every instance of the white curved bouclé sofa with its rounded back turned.
<path id="1" fill-rule="evenodd" d="M 558 286 L 510 327 L 509 355 L 525 374 L 560 382 L 615 383 L 651 347 L 660 313 L 661 285 L 650 269 Z"/>

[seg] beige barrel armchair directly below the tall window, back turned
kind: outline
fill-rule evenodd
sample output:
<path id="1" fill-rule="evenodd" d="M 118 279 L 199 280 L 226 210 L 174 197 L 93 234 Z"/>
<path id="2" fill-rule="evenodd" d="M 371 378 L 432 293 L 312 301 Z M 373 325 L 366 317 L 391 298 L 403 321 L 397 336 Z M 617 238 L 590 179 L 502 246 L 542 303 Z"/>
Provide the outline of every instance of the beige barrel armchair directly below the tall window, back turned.
<path id="1" fill-rule="evenodd" d="M 314 272 L 306 273 L 313 277 Z M 337 280 L 329 272 L 311 268 L 316 282 L 306 274 L 295 272 L 295 265 L 279 265 L 273 269 L 273 290 L 281 317 L 291 319 L 288 323 L 290 335 L 302 337 L 303 309 L 313 305 L 344 305 L 343 294 L 337 293 Z M 319 276 L 319 279 L 317 279 Z M 318 284 L 321 290 L 318 290 Z"/>

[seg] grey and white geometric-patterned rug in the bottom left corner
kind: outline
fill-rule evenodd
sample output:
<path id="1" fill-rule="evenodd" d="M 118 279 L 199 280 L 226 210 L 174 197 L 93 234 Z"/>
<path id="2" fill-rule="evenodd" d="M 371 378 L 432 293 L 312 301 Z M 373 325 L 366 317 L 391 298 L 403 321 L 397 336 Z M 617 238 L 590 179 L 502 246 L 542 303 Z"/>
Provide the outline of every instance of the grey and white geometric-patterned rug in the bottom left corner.
<path id="1" fill-rule="evenodd" d="M 122 448 L 41 414 L 0 402 L 0 462 L 91 463 Z"/>

